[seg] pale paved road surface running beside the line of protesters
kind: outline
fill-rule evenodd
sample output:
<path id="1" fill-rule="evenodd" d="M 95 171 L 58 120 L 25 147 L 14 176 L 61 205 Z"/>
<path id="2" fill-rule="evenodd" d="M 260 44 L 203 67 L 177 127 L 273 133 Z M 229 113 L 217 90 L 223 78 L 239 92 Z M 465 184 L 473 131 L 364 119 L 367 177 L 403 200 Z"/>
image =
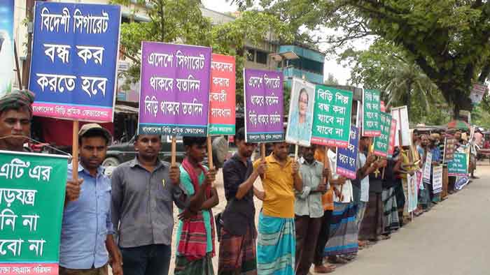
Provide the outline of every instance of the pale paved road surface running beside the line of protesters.
<path id="1" fill-rule="evenodd" d="M 332 274 L 490 274 L 490 166 L 478 166 L 477 175 L 481 178 Z"/>

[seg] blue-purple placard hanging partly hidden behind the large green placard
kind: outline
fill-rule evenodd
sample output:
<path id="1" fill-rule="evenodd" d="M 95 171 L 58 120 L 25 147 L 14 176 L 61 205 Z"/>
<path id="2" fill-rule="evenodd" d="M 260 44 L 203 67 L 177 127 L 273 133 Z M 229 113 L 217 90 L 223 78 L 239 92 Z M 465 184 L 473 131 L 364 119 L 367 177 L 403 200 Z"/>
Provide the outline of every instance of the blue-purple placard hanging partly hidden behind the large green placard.
<path id="1" fill-rule="evenodd" d="M 347 148 L 337 149 L 337 174 L 348 179 L 356 179 L 359 130 L 351 126 L 351 136 Z"/>

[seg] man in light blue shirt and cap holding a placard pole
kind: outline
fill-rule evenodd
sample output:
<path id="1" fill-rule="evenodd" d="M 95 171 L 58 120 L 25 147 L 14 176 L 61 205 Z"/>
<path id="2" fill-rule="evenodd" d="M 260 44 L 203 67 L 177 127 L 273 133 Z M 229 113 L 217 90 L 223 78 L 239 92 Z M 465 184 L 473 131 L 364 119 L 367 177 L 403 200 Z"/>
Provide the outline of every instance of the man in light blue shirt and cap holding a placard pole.
<path id="1" fill-rule="evenodd" d="M 109 132 L 99 124 L 85 124 L 78 133 L 83 179 L 80 197 L 66 203 L 63 212 L 59 274 L 106 275 L 109 256 L 114 275 L 122 275 L 122 260 L 113 239 L 111 180 L 101 164 L 106 157 Z M 73 166 L 68 166 L 71 179 Z"/>

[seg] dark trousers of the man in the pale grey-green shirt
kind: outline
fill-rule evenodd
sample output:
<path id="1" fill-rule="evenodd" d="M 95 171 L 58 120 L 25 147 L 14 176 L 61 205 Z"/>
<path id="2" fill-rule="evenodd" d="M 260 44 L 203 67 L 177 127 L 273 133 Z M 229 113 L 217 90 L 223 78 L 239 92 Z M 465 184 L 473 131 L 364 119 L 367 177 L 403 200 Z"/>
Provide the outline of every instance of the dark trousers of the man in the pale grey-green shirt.
<path id="1" fill-rule="evenodd" d="M 316 240 L 323 218 L 295 216 L 296 275 L 306 275 L 315 255 Z"/>

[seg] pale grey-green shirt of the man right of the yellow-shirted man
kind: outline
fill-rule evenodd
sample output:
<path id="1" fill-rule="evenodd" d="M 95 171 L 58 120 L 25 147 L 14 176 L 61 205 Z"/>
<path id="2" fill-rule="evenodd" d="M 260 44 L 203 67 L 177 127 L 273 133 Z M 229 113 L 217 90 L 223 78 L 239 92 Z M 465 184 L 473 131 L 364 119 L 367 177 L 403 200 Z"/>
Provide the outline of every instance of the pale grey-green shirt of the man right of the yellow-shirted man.
<path id="1" fill-rule="evenodd" d="M 323 216 L 323 205 L 321 203 L 321 192 L 316 191 L 323 179 L 323 163 L 313 161 L 307 163 L 300 158 L 300 173 L 303 180 L 301 192 L 295 191 L 295 214 L 297 216 L 309 216 L 320 218 Z"/>

